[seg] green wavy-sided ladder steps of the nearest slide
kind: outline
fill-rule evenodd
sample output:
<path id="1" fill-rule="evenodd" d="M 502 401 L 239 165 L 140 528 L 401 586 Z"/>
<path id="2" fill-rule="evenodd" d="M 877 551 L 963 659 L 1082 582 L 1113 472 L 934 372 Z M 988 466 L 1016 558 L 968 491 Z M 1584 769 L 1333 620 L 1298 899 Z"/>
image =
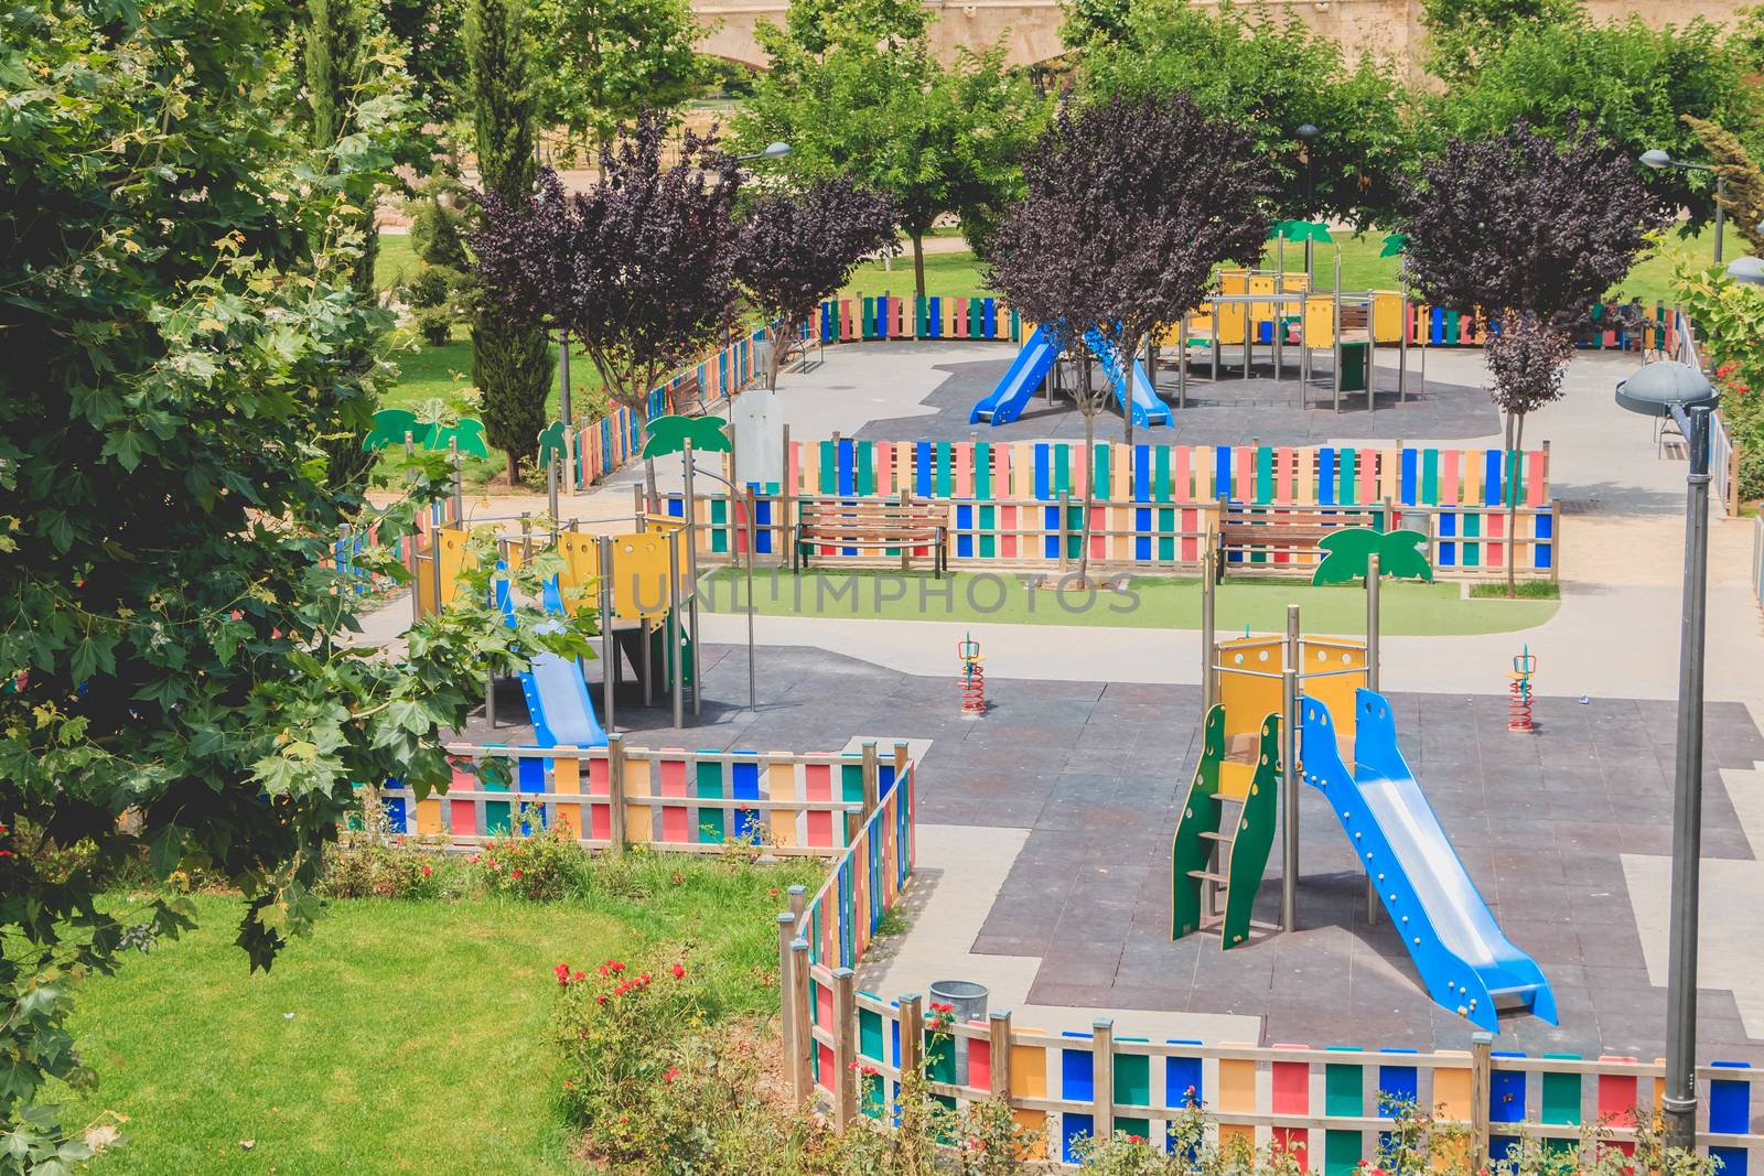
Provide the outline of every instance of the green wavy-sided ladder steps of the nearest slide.
<path id="1" fill-rule="evenodd" d="M 1242 795 L 1221 788 L 1224 758 L 1224 707 L 1215 705 L 1207 712 L 1201 760 L 1170 852 L 1175 864 L 1170 938 L 1217 927 L 1219 945 L 1231 949 L 1249 938 L 1256 890 L 1274 848 L 1281 795 L 1279 716 L 1261 721 L 1256 770 Z M 1215 896 L 1224 896 L 1224 910 L 1210 901 Z"/>

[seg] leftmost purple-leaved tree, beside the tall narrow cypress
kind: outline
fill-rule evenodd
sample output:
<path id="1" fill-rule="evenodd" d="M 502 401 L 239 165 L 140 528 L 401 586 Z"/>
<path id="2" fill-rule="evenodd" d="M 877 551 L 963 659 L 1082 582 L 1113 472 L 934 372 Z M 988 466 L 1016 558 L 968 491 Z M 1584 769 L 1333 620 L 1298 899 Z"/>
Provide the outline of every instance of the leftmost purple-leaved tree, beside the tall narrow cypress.
<path id="1" fill-rule="evenodd" d="M 716 340 L 736 293 L 737 164 L 714 132 L 686 132 L 663 166 L 667 116 L 646 111 L 602 148 L 591 189 L 566 196 L 543 171 L 526 201 L 485 192 L 471 238 L 487 296 L 570 331 L 640 423 L 656 384 Z M 653 465 L 646 480 L 654 506 Z"/>

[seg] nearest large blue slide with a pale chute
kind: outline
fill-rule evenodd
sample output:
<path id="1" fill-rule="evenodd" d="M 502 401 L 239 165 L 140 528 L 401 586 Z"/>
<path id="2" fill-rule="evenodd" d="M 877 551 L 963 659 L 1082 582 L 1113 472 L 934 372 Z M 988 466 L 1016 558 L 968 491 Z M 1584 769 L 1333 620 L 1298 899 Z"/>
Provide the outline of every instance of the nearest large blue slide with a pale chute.
<path id="1" fill-rule="evenodd" d="M 1432 806 L 1397 748 L 1390 703 L 1357 691 L 1349 772 L 1328 709 L 1304 698 L 1305 781 L 1328 795 L 1342 829 L 1378 883 L 1427 993 L 1443 1007 L 1499 1033 L 1498 1012 L 1524 1009 L 1556 1024 L 1556 996 L 1536 963 L 1514 947 L 1476 892 Z"/>

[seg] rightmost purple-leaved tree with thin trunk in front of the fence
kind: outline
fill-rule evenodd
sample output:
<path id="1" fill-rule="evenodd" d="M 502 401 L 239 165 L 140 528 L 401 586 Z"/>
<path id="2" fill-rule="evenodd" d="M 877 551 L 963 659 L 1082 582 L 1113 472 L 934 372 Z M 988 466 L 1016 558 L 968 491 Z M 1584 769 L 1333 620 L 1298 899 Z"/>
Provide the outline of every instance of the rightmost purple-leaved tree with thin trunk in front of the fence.
<path id="1" fill-rule="evenodd" d="M 1397 231 L 1424 300 L 1492 328 L 1489 395 L 1505 416 L 1506 534 L 1519 513 L 1526 416 L 1561 397 L 1573 331 L 1623 280 L 1660 215 L 1635 160 L 1591 129 L 1552 139 L 1526 123 L 1454 139 L 1408 185 Z M 1514 591 L 1514 545 L 1506 545 Z"/>

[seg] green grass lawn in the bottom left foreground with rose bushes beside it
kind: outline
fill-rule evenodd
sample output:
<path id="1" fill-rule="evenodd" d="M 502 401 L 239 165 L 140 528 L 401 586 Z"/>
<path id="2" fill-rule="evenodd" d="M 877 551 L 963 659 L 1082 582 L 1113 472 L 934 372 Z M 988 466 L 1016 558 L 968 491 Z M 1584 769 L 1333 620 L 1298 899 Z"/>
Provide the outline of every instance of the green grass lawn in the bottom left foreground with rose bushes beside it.
<path id="1" fill-rule="evenodd" d="M 818 875 L 654 855 L 593 901 L 346 899 L 268 975 L 233 945 L 242 901 L 198 897 L 196 933 L 83 989 L 74 1031 L 101 1084 L 69 1121 L 127 1116 L 93 1176 L 575 1172 L 552 964 L 683 950 L 718 1009 L 767 1012 L 767 890 Z"/>

